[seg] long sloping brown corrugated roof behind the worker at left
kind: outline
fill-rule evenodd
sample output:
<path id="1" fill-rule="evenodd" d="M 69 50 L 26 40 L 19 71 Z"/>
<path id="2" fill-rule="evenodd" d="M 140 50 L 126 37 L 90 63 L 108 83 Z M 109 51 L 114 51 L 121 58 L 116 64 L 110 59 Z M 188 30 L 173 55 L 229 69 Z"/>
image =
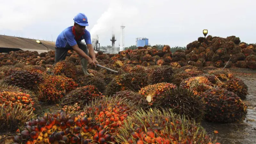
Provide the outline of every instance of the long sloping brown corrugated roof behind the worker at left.
<path id="1" fill-rule="evenodd" d="M 55 42 L 40 40 L 50 50 L 55 50 Z M 3 48 L 19 48 L 19 49 L 32 49 L 47 51 L 43 44 L 36 43 L 36 39 L 29 39 L 15 36 L 0 35 L 0 47 Z"/>

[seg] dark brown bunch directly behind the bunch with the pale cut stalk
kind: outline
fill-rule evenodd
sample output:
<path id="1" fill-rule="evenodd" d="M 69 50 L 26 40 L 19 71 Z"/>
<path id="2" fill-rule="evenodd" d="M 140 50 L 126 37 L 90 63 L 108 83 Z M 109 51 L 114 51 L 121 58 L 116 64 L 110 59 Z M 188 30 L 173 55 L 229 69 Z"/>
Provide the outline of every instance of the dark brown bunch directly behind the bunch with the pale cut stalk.
<path id="1" fill-rule="evenodd" d="M 149 76 L 148 83 L 156 84 L 162 82 L 170 82 L 172 80 L 172 67 L 170 66 L 161 66 L 156 67 L 153 73 Z"/>

